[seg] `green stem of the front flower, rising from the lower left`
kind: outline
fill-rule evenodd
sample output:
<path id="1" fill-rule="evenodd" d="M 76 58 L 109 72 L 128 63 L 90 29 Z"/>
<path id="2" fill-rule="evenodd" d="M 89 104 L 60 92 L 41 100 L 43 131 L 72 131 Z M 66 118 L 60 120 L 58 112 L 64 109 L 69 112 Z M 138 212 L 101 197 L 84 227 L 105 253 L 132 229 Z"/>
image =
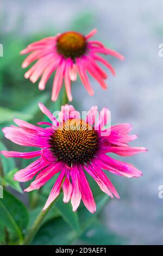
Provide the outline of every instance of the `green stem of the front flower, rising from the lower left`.
<path id="1" fill-rule="evenodd" d="M 43 219 L 47 215 L 48 211 L 51 209 L 52 205 L 53 205 L 53 203 L 45 211 L 43 211 L 43 210 L 40 211 L 40 214 L 36 217 L 36 220 L 35 220 L 32 228 L 30 228 L 27 236 L 24 238 L 24 241 L 21 243 L 21 245 L 29 245 L 30 242 L 32 242 L 37 231 L 41 227 L 41 223 L 42 223 Z"/>

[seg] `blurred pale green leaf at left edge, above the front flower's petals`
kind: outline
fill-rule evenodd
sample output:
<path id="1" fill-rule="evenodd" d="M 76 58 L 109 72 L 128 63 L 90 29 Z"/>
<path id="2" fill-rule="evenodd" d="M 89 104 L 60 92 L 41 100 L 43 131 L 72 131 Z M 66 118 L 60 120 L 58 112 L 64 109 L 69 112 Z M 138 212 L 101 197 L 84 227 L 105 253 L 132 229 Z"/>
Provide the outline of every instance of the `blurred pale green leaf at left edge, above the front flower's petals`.
<path id="1" fill-rule="evenodd" d="M 32 118 L 30 114 L 23 114 L 21 112 L 13 111 L 8 108 L 0 107 L 0 123 L 11 121 L 14 118 L 29 120 Z"/>

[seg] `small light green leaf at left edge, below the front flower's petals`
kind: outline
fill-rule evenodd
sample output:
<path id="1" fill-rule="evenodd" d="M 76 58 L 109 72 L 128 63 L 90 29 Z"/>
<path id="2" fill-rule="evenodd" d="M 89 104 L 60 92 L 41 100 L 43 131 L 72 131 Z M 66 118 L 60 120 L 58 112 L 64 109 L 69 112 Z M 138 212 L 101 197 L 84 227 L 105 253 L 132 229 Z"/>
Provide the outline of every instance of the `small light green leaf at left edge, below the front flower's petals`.
<path id="1" fill-rule="evenodd" d="M 14 174 L 18 171 L 17 168 L 15 168 L 14 170 L 10 170 L 10 172 L 8 172 L 4 178 L 0 177 L 0 180 L 2 180 L 3 184 L 5 186 L 10 186 L 12 188 L 14 188 L 14 190 L 22 193 L 22 188 L 20 186 L 20 183 L 18 181 L 15 181 L 13 179 Z"/>

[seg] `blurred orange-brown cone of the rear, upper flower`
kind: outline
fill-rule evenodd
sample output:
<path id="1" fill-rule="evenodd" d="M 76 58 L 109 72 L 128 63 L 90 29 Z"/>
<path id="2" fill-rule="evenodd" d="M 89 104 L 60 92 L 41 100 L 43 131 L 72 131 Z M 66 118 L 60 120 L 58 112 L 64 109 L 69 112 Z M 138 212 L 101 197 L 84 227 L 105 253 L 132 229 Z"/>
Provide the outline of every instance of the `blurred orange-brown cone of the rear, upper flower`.
<path id="1" fill-rule="evenodd" d="M 77 32 L 63 33 L 57 39 L 57 51 L 65 58 L 70 57 L 74 60 L 86 51 L 85 37 Z"/>

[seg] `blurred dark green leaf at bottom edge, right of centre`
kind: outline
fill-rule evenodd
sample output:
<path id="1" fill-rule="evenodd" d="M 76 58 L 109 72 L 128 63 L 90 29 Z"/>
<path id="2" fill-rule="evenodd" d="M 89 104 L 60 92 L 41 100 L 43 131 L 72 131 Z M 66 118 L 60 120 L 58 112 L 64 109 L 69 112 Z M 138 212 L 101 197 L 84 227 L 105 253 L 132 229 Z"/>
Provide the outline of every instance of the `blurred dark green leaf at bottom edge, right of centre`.
<path id="1" fill-rule="evenodd" d="M 92 223 L 80 239 L 89 245 L 123 245 L 124 239 L 109 231 L 101 223 Z"/>

